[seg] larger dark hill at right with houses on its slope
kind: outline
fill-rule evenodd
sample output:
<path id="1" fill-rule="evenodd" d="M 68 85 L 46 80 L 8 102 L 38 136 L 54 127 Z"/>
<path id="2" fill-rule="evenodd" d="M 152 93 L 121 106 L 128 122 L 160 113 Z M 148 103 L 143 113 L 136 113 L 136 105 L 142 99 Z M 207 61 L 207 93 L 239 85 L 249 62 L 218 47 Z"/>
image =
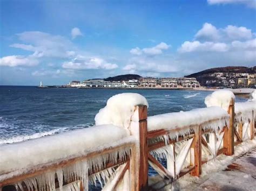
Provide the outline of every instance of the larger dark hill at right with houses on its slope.
<path id="1" fill-rule="evenodd" d="M 225 73 L 225 79 L 221 79 L 214 73 Z M 220 68 L 211 68 L 206 69 L 201 72 L 197 72 L 194 74 L 186 75 L 185 77 L 196 77 L 196 79 L 200 82 L 203 86 L 212 86 L 212 87 L 221 87 L 221 86 L 230 86 L 230 81 L 235 80 L 235 73 L 249 73 L 255 74 L 256 73 L 256 66 L 254 67 L 244 67 L 244 66 L 227 66 L 227 67 L 220 67 Z M 226 81 L 225 81 L 226 80 Z"/>

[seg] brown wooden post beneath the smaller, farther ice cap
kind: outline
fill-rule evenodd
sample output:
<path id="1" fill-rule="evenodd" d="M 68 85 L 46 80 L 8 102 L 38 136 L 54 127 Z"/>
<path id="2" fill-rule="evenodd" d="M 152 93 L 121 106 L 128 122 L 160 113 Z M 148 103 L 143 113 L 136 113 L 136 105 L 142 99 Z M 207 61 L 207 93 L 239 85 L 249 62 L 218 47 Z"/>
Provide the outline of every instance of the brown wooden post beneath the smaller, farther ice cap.
<path id="1" fill-rule="evenodd" d="M 230 106 L 228 107 L 228 114 L 230 115 L 230 126 L 226 128 L 223 147 L 225 148 L 224 154 L 234 154 L 234 99 L 231 100 Z"/>

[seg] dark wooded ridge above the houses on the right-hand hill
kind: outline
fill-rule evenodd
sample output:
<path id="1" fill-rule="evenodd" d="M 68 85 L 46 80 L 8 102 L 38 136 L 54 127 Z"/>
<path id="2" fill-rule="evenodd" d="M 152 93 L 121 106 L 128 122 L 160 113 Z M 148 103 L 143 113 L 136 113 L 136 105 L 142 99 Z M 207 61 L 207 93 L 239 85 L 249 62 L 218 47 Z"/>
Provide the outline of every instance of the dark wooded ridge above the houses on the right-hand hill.
<path id="1" fill-rule="evenodd" d="M 248 68 L 245 66 L 227 66 L 227 67 L 220 67 L 220 68 L 211 68 L 206 69 L 201 72 L 197 72 L 194 74 L 186 75 L 185 77 L 199 77 L 205 74 L 212 74 L 216 72 L 223 72 L 223 73 L 256 73 L 256 66 Z"/>

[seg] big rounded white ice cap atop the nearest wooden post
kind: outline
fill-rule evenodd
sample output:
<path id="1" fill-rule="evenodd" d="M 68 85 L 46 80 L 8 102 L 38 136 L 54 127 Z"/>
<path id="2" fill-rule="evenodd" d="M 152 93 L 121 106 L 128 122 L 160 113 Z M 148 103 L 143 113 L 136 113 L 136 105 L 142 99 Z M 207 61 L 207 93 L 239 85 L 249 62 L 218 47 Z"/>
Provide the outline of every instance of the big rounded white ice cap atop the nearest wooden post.
<path id="1" fill-rule="evenodd" d="M 136 105 L 147 105 L 147 100 L 140 94 L 123 93 L 117 94 L 107 100 L 105 108 L 100 109 L 95 116 L 95 124 L 113 124 L 129 128 L 131 116 Z"/>

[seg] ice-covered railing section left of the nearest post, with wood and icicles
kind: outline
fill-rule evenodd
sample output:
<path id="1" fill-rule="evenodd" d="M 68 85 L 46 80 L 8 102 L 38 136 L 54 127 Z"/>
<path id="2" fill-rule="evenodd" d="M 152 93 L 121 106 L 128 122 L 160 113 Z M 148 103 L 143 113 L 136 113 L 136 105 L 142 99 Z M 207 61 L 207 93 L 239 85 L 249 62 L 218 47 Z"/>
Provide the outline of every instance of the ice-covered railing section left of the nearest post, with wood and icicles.
<path id="1" fill-rule="evenodd" d="M 62 190 L 64 184 L 78 180 L 79 190 L 88 190 L 89 181 L 107 184 L 118 173 L 113 167 L 129 160 L 133 145 L 130 132 L 114 125 L 3 145 L 0 188 L 14 184 L 17 190 L 55 190 L 58 185 Z"/>

